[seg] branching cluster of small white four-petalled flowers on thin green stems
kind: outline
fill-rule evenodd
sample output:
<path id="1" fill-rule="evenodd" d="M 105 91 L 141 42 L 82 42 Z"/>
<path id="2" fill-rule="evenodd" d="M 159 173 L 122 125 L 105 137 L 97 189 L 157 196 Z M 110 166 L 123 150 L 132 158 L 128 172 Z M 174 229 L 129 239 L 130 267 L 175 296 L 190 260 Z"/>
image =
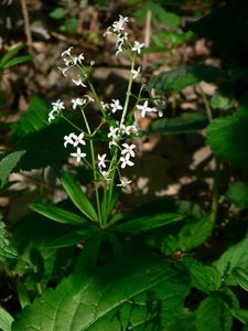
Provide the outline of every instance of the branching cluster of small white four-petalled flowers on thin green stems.
<path id="1" fill-rule="evenodd" d="M 78 135 L 71 132 L 69 135 L 65 136 L 64 147 L 67 148 L 71 146 L 75 149 L 75 151 L 71 152 L 71 156 L 76 158 L 78 163 L 84 160 L 86 164 L 94 170 L 96 182 L 104 180 L 112 184 L 116 175 L 118 174 L 120 182 L 117 184 L 117 186 L 126 186 L 131 183 L 130 180 L 127 180 L 121 175 L 120 170 L 134 164 L 133 158 L 136 157 L 134 150 L 137 146 L 129 142 L 130 139 L 139 136 L 139 127 L 134 120 L 134 111 L 138 109 L 141 113 L 141 117 L 145 117 L 151 113 L 158 113 L 159 116 L 162 116 L 160 108 L 151 107 L 147 98 L 141 98 L 142 87 L 139 93 L 139 97 L 136 98 L 136 106 L 130 108 L 129 99 L 132 97 L 132 81 L 136 79 L 141 73 L 140 66 L 136 68 L 136 58 L 137 55 L 141 54 L 144 44 L 139 43 L 138 41 L 130 42 L 128 40 L 129 33 L 126 31 L 126 24 L 128 22 L 128 18 L 119 15 L 119 20 L 115 21 L 105 33 L 105 35 L 111 34 L 117 38 L 117 55 L 120 52 L 126 52 L 131 58 L 130 78 L 123 105 L 121 105 L 121 102 L 118 98 L 111 99 L 108 104 L 99 99 L 93 84 L 88 78 L 88 73 L 86 71 L 87 66 L 84 65 L 84 54 L 82 53 L 77 56 L 72 55 L 72 46 L 62 53 L 64 66 L 58 67 L 64 76 L 67 76 L 67 71 L 71 67 L 77 67 L 79 73 L 78 77 L 72 79 L 72 82 L 76 86 L 88 87 L 94 96 L 94 99 L 90 96 L 85 95 L 83 98 L 76 97 L 71 100 L 73 110 L 76 110 L 77 108 L 82 110 L 83 120 L 85 121 L 85 128 L 87 131 L 84 132 L 80 130 Z M 86 85 L 85 83 L 88 84 Z M 94 131 L 90 130 L 90 125 L 87 121 L 85 111 L 89 102 L 95 102 L 98 109 L 103 114 L 101 122 Z M 63 109 L 65 109 L 65 106 L 61 99 L 52 103 L 52 106 L 53 108 L 50 111 L 48 121 L 53 120 L 57 115 L 63 115 L 63 117 L 66 119 L 62 113 Z M 118 118 L 118 116 L 120 117 L 119 120 L 115 118 Z M 108 137 L 109 151 L 101 154 L 97 153 L 97 157 L 95 157 L 94 141 L 90 141 L 90 139 L 100 128 L 104 129 L 105 132 L 107 131 L 106 135 Z M 83 148 L 86 146 L 86 141 L 84 140 L 85 136 L 90 143 L 89 151 L 91 153 L 90 159 L 93 160 L 93 164 L 89 164 L 87 159 L 85 159 L 86 153 L 83 150 Z"/>

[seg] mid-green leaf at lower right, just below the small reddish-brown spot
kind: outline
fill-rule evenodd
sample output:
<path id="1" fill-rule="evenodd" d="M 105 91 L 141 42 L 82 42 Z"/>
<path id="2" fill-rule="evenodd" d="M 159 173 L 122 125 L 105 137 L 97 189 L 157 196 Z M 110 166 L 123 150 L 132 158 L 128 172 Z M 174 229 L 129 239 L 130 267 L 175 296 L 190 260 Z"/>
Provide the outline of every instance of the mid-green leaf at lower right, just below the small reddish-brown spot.
<path id="1" fill-rule="evenodd" d="M 206 293 L 220 287 L 222 277 L 216 268 L 205 266 L 193 258 L 183 258 L 181 264 L 186 267 L 191 276 L 192 287 Z"/>

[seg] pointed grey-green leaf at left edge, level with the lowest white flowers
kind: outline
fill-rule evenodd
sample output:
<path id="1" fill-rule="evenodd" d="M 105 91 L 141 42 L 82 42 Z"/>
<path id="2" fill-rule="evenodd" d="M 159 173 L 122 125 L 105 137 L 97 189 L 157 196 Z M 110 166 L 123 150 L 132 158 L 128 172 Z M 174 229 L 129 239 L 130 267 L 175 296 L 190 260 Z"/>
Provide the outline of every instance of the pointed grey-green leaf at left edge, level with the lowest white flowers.
<path id="1" fill-rule="evenodd" d="M 9 174 L 13 171 L 20 159 L 25 153 L 25 150 L 18 150 L 9 153 L 0 162 L 0 189 L 7 183 Z"/>

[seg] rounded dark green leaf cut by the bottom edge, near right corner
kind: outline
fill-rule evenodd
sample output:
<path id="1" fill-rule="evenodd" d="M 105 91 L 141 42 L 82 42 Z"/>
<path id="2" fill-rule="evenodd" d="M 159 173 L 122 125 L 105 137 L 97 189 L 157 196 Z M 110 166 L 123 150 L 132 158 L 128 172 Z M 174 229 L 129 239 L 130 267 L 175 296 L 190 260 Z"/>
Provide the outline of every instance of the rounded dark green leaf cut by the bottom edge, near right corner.
<path id="1" fill-rule="evenodd" d="M 197 331 L 230 331 L 231 321 L 229 307 L 217 293 L 203 300 L 196 310 Z"/>

